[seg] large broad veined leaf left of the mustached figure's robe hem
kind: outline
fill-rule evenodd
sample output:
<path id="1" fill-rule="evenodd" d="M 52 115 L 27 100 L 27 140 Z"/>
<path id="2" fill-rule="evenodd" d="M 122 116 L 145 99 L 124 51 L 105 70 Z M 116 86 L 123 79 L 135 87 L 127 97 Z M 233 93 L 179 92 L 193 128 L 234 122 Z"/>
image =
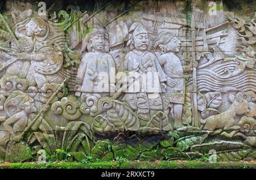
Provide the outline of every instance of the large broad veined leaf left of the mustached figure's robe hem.
<path id="1" fill-rule="evenodd" d="M 121 132 L 139 129 L 138 116 L 122 102 L 113 100 L 112 108 L 107 111 L 107 118 Z"/>

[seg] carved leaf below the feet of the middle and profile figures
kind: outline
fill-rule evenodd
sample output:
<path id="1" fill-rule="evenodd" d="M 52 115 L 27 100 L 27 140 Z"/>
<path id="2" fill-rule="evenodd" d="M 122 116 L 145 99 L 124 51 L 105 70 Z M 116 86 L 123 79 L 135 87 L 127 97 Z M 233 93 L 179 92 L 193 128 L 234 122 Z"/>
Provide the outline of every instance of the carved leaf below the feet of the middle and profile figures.
<path id="1" fill-rule="evenodd" d="M 147 123 L 146 127 L 159 128 L 161 131 L 172 130 L 172 126 L 168 122 L 168 116 L 162 111 L 156 112 L 156 114 L 153 115 L 150 121 Z"/>

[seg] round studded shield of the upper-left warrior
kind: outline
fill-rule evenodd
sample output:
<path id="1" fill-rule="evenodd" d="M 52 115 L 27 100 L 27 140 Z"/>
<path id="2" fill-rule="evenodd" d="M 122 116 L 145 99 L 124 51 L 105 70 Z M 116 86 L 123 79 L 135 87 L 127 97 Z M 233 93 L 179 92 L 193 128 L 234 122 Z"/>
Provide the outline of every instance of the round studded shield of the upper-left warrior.
<path id="1" fill-rule="evenodd" d="M 43 41 L 36 45 L 36 52 L 43 53 L 46 59 L 32 61 L 31 65 L 40 74 L 54 74 L 60 70 L 63 64 L 63 53 L 60 46 L 53 41 Z"/>

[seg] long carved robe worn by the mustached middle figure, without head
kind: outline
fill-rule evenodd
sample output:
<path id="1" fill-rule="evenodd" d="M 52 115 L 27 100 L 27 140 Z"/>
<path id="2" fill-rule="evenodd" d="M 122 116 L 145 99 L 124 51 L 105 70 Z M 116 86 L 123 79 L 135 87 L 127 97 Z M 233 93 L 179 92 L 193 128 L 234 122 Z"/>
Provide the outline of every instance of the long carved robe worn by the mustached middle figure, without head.
<path id="1" fill-rule="evenodd" d="M 139 88 L 129 88 L 129 86 L 125 91 L 124 100 L 127 101 L 129 106 L 137 110 L 138 115 L 148 114 L 149 110 L 162 110 L 160 83 L 166 81 L 166 76 L 156 56 L 148 51 L 133 50 L 127 53 L 125 57 L 125 70 L 137 71 L 141 75 Z"/>

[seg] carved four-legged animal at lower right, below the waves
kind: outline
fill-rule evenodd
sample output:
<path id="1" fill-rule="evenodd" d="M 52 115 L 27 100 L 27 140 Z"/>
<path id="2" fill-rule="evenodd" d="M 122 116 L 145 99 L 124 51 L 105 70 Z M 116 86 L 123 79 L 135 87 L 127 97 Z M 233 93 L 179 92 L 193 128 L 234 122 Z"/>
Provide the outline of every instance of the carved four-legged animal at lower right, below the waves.
<path id="1" fill-rule="evenodd" d="M 222 132 L 221 135 L 226 137 L 232 137 L 239 129 L 240 126 L 234 125 L 234 118 L 236 115 L 246 114 L 248 109 L 248 102 L 243 99 L 242 93 L 237 93 L 236 97 L 230 99 L 232 105 L 228 110 L 221 114 L 209 116 L 207 119 L 201 119 L 200 122 L 203 124 L 204 130 L 213 131 L 210 135 L 216 135 L 221 133 L 223 130 L 231 130 L 232 132 Z"/>

